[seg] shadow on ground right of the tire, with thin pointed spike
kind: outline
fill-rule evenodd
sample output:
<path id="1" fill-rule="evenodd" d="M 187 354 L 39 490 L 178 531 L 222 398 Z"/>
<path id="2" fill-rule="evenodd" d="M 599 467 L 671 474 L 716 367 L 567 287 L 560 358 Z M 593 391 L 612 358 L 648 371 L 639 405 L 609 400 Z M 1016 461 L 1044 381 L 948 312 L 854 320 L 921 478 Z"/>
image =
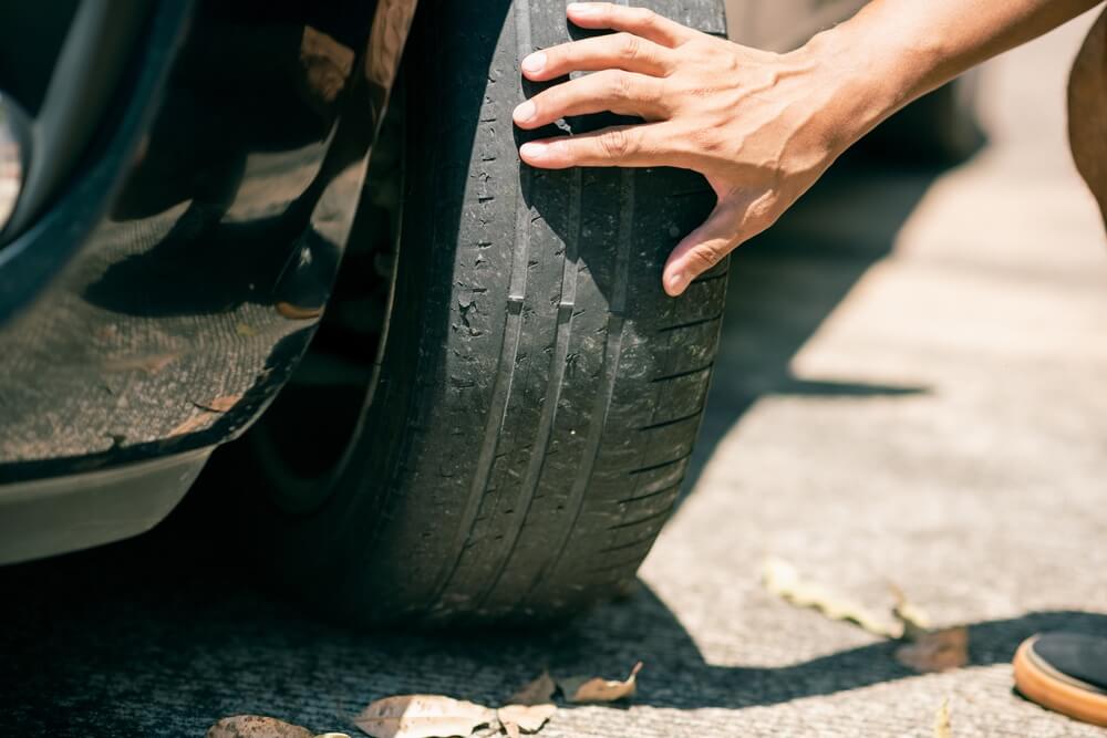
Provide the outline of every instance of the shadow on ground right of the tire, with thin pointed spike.
<path id="1" fill-rule="evenodd" d="M 943 168 L 847 154 L 773 228 L 731 254 L 718 354 L 682 500 L 726 433 L 768 395 L 915 395 L 923 386 L 797 380 L 790 362 L 897 233 Z"/>

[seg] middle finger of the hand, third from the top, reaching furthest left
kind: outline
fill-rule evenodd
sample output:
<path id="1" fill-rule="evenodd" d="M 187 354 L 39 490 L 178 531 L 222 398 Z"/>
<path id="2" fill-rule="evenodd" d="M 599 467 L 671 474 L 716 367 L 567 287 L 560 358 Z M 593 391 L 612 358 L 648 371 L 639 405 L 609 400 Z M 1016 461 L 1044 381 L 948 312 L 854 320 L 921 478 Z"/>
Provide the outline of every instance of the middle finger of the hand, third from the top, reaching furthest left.
<path id="1" fill-rule="evenodd" d="M 663 117 L 661 81 L 645 74 L 606 70 L 562 82 L 515 108 L 520 128 L 537 128 L 568 115 L 610 111 L 655 119 Z"/>

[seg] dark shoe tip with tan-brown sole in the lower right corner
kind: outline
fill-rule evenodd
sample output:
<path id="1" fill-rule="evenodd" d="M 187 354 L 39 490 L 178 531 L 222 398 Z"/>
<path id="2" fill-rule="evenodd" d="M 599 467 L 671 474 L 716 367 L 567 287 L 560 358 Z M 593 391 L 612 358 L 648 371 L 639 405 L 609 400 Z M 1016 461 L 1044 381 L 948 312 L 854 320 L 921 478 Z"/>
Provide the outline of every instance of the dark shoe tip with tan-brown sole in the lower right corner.
<path id="1" fill-rule="evenodd" d="M 1107 638 L 1045 633 L 1015 653 L 1015 687 L 1042 707 L 1107 726 Z"/>

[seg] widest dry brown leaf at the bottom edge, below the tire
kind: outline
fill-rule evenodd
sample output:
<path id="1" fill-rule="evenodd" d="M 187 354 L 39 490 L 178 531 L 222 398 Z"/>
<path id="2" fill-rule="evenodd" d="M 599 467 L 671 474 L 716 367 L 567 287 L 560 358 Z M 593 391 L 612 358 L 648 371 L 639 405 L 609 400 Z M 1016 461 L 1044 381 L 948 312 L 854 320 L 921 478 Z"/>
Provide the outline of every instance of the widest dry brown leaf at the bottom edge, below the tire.
<path id="1" fill-rule="evenodd" d="M 373 738 L 468 736 L 496 719 L 496 711 L 442 695 L 396 695 L 377 699 L 353 719 Z"/>

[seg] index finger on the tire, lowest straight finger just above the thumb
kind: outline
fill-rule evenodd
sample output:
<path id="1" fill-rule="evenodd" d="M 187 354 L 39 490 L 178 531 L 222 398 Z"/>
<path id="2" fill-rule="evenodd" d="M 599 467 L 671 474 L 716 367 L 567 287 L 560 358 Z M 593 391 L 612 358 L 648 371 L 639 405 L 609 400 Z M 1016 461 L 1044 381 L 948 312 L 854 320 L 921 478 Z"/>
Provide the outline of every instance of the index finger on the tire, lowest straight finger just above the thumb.
<path id="1" fill-rule="evenodd" d="M 519 156 L 542 169 L 665 166 L 658 146 L 664 141 L 663 125 L 612 126 L 577 136 L 535 141 L 524 144 Z"/>

